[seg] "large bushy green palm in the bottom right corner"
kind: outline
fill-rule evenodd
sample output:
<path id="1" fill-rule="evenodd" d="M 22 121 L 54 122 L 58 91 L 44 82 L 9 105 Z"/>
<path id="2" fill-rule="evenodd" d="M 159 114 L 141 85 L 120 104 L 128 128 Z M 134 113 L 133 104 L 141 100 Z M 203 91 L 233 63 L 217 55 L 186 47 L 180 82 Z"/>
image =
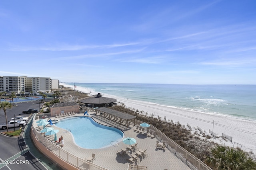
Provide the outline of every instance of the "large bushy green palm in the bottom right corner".
<path id="1" fill-rule="evenodd" d="M 211 150 L 211 155 L 206 156 L 206 164 L 216 170 L 255 170 L 256 162 L 248 153 L 225 145 L 217 145 Z"/>

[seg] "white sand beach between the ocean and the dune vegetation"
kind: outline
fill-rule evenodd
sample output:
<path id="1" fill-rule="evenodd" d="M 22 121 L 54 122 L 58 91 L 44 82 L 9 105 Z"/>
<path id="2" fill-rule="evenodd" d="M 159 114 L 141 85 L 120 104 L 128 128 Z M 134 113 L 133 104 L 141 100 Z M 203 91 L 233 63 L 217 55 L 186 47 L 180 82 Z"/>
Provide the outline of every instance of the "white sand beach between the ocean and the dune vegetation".
<path id="1" fill-rule="evenodd" d="M 70 86 L 67 84 L 62 84 L 66 87 L 74 88 L 74 86 Z M 97 94 L 98 92 L 94 92 L 91 89 L 77 87 L 76 90 L 90 93 L 92 95 Z M 112 96 L 108 94 L 104 94 L 104 97 L 115 98 L 117 102 L 122 102 L 126 107 L 131 107 L 132 109 L 147 112 L 148 115 L 153 115 L 156 117 L 166 117 L 166 121 L 179 122 L 182 125 L 187 127 L 187 124 L 191 126 L 191 129 L 197 129 L 200 127 L 204 133 L 210 135 L 209 129 L 214 133 L 216 133 L 216 139 L 209 139 L 216 143 L 225 144 L 226 146 L 233 147 L 234 143 L 236 147 L 241 147 L 241 149 L 247 152 L 254 152 L 256 154 L 256 121 L 254 120 L 245 120 L 238 119 L 235 117 L 230 117 L 226 115 L 220 114 L 212 114 L 212 113 L 202 113 L 197 111 L 192 111 L 188 109 L 180 109 L 169 106 L 160 106 L 157 104 L 141 102 L 137 100 L 128 100 L 127 98 L 119 98 L 117 96 Z M 214 121 L 214 124 L 213 124 Z M 193 132 L 193 131 L 192 131 Z M 228 139 L 222 139 L 222 133 L 232 136 L 232 142 Z"/>

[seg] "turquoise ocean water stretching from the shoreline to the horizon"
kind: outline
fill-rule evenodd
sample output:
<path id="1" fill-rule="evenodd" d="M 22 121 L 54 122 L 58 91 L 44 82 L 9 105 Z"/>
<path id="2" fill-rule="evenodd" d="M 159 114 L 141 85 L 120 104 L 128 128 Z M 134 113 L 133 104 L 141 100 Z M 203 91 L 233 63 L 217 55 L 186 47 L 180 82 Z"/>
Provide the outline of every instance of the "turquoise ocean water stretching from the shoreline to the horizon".
<path id="1" fill-rule="evenodd" d="M 76 86 L 162 106 L 256 120 L 256 85 L 76 83 Z"/>

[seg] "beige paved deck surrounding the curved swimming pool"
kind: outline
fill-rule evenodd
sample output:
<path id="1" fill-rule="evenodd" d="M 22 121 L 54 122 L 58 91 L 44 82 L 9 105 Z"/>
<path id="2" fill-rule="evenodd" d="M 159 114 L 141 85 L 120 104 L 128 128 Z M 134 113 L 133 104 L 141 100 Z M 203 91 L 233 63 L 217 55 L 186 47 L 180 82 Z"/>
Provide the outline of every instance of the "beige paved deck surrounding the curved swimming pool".
<path id="1" fill-rule="evenodd" d="M 146 135 L 134 132 L 133 129 L 136 129 L 131 123 L 131 125 L 126 128 L 123 125 L 119 125 L 118 123 L 114 123 L 104 117 L 100 117 L 96 115 L 95 112 L 88 112 L 95 121 L 113 126 L 124 131 L 124 138 L 133 137 L 137 140 L 137 149 L 146 149 L 146 157 L 138 161 L 138 165 L 147 166 L 148 170 L 190 170 L 184 162 L 182 162 L 179 158 L 177 158 L 170 150 L 162 150 L 156 149 L 156 138 L 146 137 Z M 83 113 L 78 113 L 76 115 L 68 116 L 83 116 Z M 52 119 L 65 119 L 68 117 L 58 117 Z M 36 126 L 36 124 L 34 124 Z M 127 170 L 129 162 L 129 154 L 125 154 L 124 156 L 117 155 L 117 151 L 121 149 L 125 149 L 128 145 L 124 144 L 122 141 L 118 143 L 118 145 L 113 145 L 111 147 L 106 147 L 103 149 L 84 149 L 80 148 L 78 145 L 74 143 L 74 139 L 70 132 L 66 132 L 66 129 L 61 129 L 56 126 L 52 126 L 54 129 L 58 129 L 57 137 L 60 135 L 64 138 L 64 147 L 62 149 L 70 152 L 80 158 L 88 158 L 92 156 L 92 153 L 95 154 L 95 160 L 93 160 L 94 164 L 107 168 L 109 170 Z M 86 130 L 86 129 L 85 129 Z M 84 141 L 86 142 L 86 140 Z"/>

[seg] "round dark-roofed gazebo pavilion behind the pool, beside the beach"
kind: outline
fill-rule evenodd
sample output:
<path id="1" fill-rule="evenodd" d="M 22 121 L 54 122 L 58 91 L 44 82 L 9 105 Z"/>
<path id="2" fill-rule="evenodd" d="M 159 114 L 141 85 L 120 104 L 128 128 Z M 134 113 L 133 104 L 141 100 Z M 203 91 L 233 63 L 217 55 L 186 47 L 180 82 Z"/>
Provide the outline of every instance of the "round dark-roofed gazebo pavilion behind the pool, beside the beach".
<path id="1" fill-rule="evenodd" d="M 110 107 L 113 106 L 116 99 L 102 97 L 102 95 L 98 93 L 97 96 L 80 100 L 80 102 L 84 103 L 87 107 Z"/>

